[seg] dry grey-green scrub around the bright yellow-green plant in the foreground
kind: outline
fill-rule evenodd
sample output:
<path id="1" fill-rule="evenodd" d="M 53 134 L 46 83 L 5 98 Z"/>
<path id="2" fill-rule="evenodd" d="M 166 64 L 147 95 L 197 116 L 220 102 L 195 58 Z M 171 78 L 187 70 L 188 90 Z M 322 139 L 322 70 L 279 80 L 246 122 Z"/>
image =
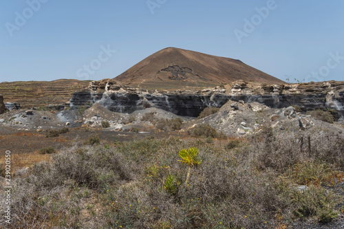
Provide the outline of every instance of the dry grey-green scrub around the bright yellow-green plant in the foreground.
<path id="1" fill-rule="evenodd" d="M 286 228 L 343 212 L 341 136 L 266 128 L 222 142 L 76 144 L 17 177 L 11 226 Z"/>

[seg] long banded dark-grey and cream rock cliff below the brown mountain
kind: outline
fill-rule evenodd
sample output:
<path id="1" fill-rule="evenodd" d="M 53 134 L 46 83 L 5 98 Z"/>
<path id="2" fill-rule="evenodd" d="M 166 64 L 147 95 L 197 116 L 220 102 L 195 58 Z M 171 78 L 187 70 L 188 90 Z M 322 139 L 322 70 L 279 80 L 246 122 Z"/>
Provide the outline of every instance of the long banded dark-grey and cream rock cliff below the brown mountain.
<path id="1" fill-rule="evenodd" d="M 119 85 L 115 80 L 93 81 L 73 94 L 71 107 L 96 102 L 110 111 L 131 113 L 156 107 L 179 116 L 196 117 L 205 107 L 221 107 L 228 100 L 259 102 L 271 108 L 297 107 L 300 111 L 330 109 L 344 119 L 344 82 L 260 85 L 238 80 L 231 85 L 200 91 L 157 91 Z"/>

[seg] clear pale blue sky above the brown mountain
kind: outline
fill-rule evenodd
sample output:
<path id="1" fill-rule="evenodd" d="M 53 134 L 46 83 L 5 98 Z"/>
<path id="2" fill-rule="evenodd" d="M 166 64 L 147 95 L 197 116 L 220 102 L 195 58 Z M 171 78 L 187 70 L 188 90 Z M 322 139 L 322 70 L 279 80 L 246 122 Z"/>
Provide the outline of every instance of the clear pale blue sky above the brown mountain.
<path id="1" fill-rule="evenodd" d="M 344 80 L 343 9 L 341 0 L 3 1 L 0 82 L 114 78 L 165 47 L 290 82 Z"/>

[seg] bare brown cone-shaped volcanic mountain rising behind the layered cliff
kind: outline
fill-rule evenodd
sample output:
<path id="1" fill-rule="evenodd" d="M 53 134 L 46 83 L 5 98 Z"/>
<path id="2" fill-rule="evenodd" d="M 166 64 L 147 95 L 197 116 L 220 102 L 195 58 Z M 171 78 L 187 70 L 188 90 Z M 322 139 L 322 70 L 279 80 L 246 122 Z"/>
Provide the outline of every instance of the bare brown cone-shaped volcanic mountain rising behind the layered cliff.
<path id="1" fill-rule="evenodd" d="M 239 60 L 175 47 L 152 54 L 115 79 L 123 84 L 148 89 L 211 87 L 235 80 L 284 83 Z"/>

